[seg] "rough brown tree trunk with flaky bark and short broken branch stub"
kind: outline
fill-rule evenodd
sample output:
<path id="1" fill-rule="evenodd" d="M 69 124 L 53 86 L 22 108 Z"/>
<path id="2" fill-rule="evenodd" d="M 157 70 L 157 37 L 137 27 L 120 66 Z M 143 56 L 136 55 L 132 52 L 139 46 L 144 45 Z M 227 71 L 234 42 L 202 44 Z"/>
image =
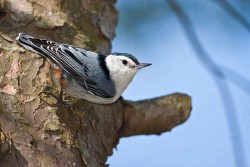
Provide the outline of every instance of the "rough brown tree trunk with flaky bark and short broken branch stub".
<path id="1" fill-rule="evenodd" d="M 160 134 L 184 122 L 190 97 L 97 105 L 58 95 L 50 66 L 15 43 L 19 32 L 106 54 L 115 35 L 114 0 L 0 1 L 0 166 L 104 166 L 119 138 Z M 48 104 L 49 103 L 49 104 Z"/>

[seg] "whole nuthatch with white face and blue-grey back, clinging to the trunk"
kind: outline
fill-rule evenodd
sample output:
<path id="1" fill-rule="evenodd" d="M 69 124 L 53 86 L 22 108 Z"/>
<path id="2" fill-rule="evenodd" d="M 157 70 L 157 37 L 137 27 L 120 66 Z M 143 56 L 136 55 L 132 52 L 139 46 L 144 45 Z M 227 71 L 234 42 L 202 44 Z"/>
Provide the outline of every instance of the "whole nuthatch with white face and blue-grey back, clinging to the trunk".
<path id="1" fill-rule="evenodd" d="M 129 53 L 103 55 L 25 33 L 19 33 L 16 41 L 49 61 L 52 79 L 63 92 L 96 104 L 114 103 L 136 73 L 151 65 L 139 63 Z"/>

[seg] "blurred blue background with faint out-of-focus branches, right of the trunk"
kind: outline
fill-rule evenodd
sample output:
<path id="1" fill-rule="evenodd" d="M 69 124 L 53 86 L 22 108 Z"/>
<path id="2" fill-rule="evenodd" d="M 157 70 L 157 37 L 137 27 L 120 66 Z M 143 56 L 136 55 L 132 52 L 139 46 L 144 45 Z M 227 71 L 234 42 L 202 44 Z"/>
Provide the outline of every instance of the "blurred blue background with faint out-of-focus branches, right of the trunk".
<path id="1" fill-rule="evenodd" d="M 192 97 L 190 118 L 160 136 L 120 140 L 111 167 L 250 165 L 250 1 L 118 0 L 112 51 L 153 63 L 123 94 Z"/>

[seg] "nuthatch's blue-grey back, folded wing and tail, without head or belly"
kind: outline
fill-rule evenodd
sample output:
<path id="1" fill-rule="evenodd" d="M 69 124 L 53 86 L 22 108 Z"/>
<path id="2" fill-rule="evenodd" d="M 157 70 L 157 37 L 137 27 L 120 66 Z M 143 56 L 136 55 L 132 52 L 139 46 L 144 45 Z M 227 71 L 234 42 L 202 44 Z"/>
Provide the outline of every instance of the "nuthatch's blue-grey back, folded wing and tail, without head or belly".
<path id="1" fill-rule="evenodd" d="M 20 33 L 16 41 L 26 49 L 49 59 L 91 93 L 104 98 L 115 96 L 115 86 L 110 80 L 105 56 L 76 46 L 37 39 L 24 33 Z"/>

